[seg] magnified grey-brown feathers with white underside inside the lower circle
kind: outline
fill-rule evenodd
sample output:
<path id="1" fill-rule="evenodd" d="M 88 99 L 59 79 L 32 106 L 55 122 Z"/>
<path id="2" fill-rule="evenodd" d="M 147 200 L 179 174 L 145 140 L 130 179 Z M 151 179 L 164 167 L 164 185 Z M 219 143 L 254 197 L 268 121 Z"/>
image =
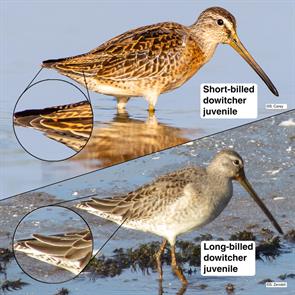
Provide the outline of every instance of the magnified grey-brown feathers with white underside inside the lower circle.
<path id="1" fill-rule="evenodd" d="M 14 251 L 23 252 L 75 275 L 89 262 L 92 248 L 92 235 L 89 230 L 51 236 L 33 234 L 32 239 L 17 241 L 13 245 Z"/>

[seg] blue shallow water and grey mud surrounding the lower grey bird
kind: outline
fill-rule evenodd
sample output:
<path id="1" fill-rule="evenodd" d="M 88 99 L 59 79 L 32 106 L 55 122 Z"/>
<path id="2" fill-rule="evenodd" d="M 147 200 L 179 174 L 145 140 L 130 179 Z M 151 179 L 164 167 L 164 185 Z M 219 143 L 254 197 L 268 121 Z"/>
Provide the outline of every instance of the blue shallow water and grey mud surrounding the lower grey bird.
<path id="1" fill-rule="evenodd" d="M 77 179 L 62 182 L 34 193 L 4 201 L 2 204 L 0 247 L 9 246 L 7 236 L 11 234 L 18 220 L 35 206 L 69 201 L 64 206 L 73 208 L 77 198 L 97 193 L 98 197 L 123 193 L 151 181 L 154 177 L 183 167 L 187 164 L 206 165 L 217 150 L 234 148 L 245 160 L 245 170 L 254 189 L 264 200 L 270 211 L 278 220 L 285 232 L 294 229 L 294 178 L 295 178 L 295 127 L 284 127 L 282 122 L 288 122 L 295 117 L 295 111 L 278 115 L 251 125 L 242 126 L 228 132 L 207 137 L 175 149 L 166 150 L 135 161 L 120 164 L 116 167 L 97 171 Z M 50 194 L 47 195 L 46 193 Z M 74 201 L 70 201 L 74 200 Z M 22 204 L 22 206 L 20 206 Z M 4 209 L 5 208 L 5 209 Z M 95 249 L 117 228 L 113 223 L 102 220 L 79 210 L 88 222 L 95 238 Z M 240 188 L 234 185 L 234 197 L 222 214 L 212 223 L 198 232 L 184 235 L 183 239 L 192 240 L 197 234 L 210 233 L 214 237 L 227 239 L 232 233 L 254 226 L 253 232 L 266 227 L 272 229 L 271 224 L 254 205 L 252 199 Z M 111 255 L 113 249 L 136 247 L 140 243 L 159 240 L 157 237 L 137 231 L 121 228 L 115 237 L 103 248 L 104 255 Z M 284 273 L 294 273 L 294 244 L 283 243 L 284 253 L 273 261 L 257 261 L 255 277 L 201 277 L 199 268 L 197 273 L 189 277 L 190 285 L 185 294 L 202 292 L 204 294 L 226 294 L 225 285 L 233 283 L 238 294 L 276 294 L 278 289 L 268 289 L 258 284 L 262 279 L 270 278 L 280 281 L 277 277 Z M 89 293 L 103 290 L 104 294 L 136 294 L 158 293 L 157 274 L 144 275 L 141 272 L 124 271 L 115 278 L 103 278 L 91 281 L 82 274 L 79 278 L 62 285 L 44 285 L 30 280 L 22 274 L 16 264 L 11 262 L 7 268 L 9 279 L 22 278 L 29 282 L 22 291 L 15 294 L 38 294 L 44 288 L 48 294 L 57 289 L 67 287 L 73 294 L 79 290 Z M 180 288 L 178 280 L 172 275 L 168 266 L 164 268 L 164 293 L 176 294 Z M 287 279 L 288 288 L 280 289 L 280 294 L 291 294 L 295 280 Z M 205 290 L 198 285 L 207 284 Z M 26 293 L 25 293 L 26 294 Z"/>

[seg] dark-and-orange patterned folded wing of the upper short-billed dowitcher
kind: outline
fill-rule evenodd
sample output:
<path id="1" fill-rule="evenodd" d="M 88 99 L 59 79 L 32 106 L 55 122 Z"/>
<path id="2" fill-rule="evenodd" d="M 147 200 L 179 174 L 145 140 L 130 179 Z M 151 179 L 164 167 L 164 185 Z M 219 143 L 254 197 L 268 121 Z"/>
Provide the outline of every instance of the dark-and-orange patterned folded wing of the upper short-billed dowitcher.
<path id="1" fill-rule="evenodd" d="M 65 73 L 102 79 L 140 79 L 173 67 L 190 39 L 186 27 L 159 23 L 121 34 L 79 56 L 44 62 Z M 190 39 L 191 41 L 191 39 Z"/>

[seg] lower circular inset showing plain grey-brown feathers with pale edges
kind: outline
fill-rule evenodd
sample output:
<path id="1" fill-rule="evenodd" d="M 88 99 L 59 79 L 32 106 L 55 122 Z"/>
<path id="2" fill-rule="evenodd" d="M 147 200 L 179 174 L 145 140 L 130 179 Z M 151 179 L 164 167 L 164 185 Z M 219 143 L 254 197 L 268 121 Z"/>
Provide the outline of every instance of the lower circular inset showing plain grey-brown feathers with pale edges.
<path id="1" fill-rule="evenodd" d="M 59 206 L 38 208 L 18 224 L 13 251 L 20 268 L 44 283 L 62 283 L 80 274 L 93 255 L 88 224 Z"/>

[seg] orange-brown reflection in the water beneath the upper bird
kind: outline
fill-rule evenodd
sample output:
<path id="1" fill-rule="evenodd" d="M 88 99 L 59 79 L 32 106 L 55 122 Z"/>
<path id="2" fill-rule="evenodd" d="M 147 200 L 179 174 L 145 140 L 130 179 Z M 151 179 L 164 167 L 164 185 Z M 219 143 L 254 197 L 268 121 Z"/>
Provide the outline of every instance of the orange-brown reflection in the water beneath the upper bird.
<path id="1" fill-rule="evenodd" d="M 127 111 L 120 111 L 109 123 L 96 122 L 89 142 L 71 160 L 90 160 L 83 164 L 102 168 L 183 144 L 198 134 L 200 129 L 160 123 L 154 113 L 149 113 L 146 120 L 140 120 L 130 118 Z"/>

